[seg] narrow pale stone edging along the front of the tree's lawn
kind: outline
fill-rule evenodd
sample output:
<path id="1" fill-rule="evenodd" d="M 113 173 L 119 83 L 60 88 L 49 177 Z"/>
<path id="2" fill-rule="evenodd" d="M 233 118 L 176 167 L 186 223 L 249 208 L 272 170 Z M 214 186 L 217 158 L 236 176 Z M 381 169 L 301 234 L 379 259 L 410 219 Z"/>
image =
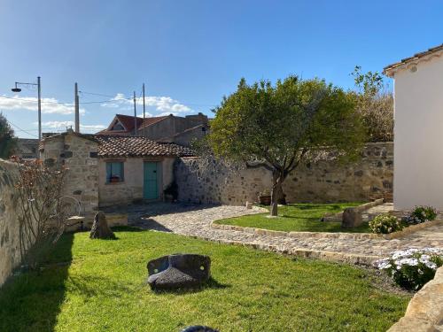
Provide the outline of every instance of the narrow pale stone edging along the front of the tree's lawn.
<path id="1" fill-rule="evenodd" d="M 315 238 L 325 238 L 325 239 L 350 239 L 350 240 L 372 240 L 372 239 L 385 239 L 392 240 L 411 233 L 417 230 L 428 228 L 431 226 L 438 226 L 443 224 L 443 220 L 433 220 L 425 221 L 421 224 L 411 225 L 408 228 L 404 228 L 399 232 L 394 232 L 391 234 L 372 234 L 372 233 L 345 233 L 345 232 L 284 232 L 281 230 L 271 230 L 264 228 L 245 228 L 241 226 L 234 225 L 224 225 L 216 224 L 216 220 L 212 221 L 210 224 L 211 228 L 221 229 L 221 230 L 234 230 L 237 232 L 250 233 L 255 235 L 266 235 L 266 236 L 278 236 L 278 237 L 315 237 Z"/>

